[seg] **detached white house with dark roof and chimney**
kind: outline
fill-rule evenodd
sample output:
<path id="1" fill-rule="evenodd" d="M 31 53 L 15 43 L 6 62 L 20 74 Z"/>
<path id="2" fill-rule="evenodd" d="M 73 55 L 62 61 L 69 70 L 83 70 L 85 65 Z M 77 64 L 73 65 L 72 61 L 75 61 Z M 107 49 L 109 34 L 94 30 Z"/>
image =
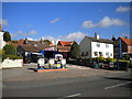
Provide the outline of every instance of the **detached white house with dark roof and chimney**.
<path id="1" fill-rule="evenodd" d="M 102 56 L 113 58 L 113 44 L 111 40 L 100 38 L 97 33 L 94 37 L 85 36 L 80 42 L 80 54 L 84 58 Z"/>

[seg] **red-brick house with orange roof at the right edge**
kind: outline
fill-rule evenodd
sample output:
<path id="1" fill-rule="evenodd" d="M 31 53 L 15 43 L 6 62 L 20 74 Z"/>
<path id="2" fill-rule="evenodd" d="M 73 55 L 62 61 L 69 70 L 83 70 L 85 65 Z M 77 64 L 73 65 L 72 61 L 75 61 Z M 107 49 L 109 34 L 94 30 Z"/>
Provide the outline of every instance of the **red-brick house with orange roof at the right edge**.
<path id="1" fill-rule="evenodd" d="M 114 57 L 122 57 L 123 54 L 132 53 L 132 38 L 119 37 L 113 41 Z"/>

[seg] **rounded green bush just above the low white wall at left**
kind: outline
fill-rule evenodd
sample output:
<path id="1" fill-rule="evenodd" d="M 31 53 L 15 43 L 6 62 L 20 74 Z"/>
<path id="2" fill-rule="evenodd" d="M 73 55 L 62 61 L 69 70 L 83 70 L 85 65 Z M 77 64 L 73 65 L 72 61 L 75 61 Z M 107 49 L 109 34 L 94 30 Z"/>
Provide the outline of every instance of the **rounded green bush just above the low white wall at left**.
<path id="1" fill-rule="evenodd" d="M 16 48 L 11 44 L 3 46 L 3 51 L 7 55 L 16 55 Z"/>

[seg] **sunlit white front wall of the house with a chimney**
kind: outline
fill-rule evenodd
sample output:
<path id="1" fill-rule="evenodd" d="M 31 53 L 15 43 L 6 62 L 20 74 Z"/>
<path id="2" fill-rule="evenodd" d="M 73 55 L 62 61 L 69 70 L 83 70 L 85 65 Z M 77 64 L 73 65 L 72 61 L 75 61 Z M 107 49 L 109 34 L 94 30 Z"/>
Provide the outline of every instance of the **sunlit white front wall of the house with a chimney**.
<path id="1" fill-rule="evenodd" d="M 100 44 L 100 47 L 97 47 L 97 43 Z M 113 44 L 108 44 L 109 47 L 106 47 L 106 43 L 91 42 L 91 57 L 99 57 L 99 52 L 102 52 L 102 57 L 113 58 Z M 98 56 L 95 56 L 94 52 L 98 52 Z M 109 52 L 109 56 L 106 53 Z M 112 56 L 110 55 L 112 54 Z"/>

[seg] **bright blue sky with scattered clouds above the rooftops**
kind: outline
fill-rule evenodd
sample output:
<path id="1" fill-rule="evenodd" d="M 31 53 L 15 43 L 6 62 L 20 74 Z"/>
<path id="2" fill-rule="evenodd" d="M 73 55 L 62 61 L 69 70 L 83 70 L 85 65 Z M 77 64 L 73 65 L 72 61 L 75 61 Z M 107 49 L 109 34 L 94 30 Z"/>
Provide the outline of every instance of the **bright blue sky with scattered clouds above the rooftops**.
<path id="1" fill-rule="evenodd" d="M 2 2 L 1 20 L 12 40 L 130 36 L 129 2 Z"/>

